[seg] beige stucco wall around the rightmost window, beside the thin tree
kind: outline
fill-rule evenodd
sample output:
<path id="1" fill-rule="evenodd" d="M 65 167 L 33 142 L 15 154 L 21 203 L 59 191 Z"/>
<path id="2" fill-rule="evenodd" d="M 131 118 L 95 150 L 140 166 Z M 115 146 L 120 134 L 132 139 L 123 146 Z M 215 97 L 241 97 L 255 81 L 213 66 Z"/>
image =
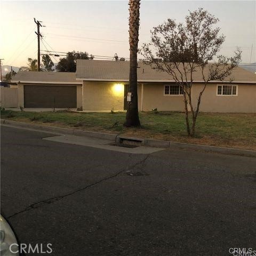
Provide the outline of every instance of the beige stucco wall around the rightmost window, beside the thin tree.
<path id="1" fill-rule="evenodd" d="M 221 85 L 221 83 L 218 83 Z M 218 95 L 217 83 L 208 84 L 201 98 L 199 110 L 202 112 L 256 113 L 256 84 L 235 84 L 237 96 Z M 192 100 L 197 102 L 202 84 L 193 85 Z"/>

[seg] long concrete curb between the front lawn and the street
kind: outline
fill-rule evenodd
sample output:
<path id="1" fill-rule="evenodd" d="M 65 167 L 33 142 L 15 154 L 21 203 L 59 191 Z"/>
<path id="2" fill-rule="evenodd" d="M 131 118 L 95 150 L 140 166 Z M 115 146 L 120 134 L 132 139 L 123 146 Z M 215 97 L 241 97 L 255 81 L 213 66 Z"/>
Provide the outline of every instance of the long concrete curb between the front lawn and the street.
<path id="1" fill-rule="evenodd" d="M 55 127 L 55 126 L 22 123 L 22 122 L 10 121 L 10 120 L 6 120 L 6 119 L 1 119 L 1 124 L 13 126 L 13 127 L 19 127 L 19 128 L 23 128 L 23 129 L 30 129 L 30 130 L 34 130 L 34 131 L 50 132 L 50 133 L 54 133 L 54 134 L 70 134 L 70 135 L 76 135 L 76 136 L 93 137 L 93 138 L 113 141 L 116 143 L 124 143 L 125 141 L 127 141 L 127 142 L 129 142 L 129 144 L 134 144 L 134 145 L 138 145 L 138 146 L 141 145 L 141 146 L 148 146 L 148 147 L 171 148 L 174 150 L 175 150 L 175 148 L 192 149 L 192 150 L 196 150 L 196 151 L 204 151 L 204 152 L 209 152 L 209 153 L 220 153 L 220 154 L 227 154 L 227 155 L 256 157 L 256 151 L 254 151 L 254 150 L 205 146 L 205 145 L 196 145 L 196 144 L 188 144 L 188 143 L 173 142 L 173 141 L 163 141 L 163 140 L 153 140 L 153 139 L 140 139 L 140 138 L 125 137 L 125 136 L 119 135 L 119 134 L 82 131 L 82 130 L 76 130 L 76 129 Z"/>

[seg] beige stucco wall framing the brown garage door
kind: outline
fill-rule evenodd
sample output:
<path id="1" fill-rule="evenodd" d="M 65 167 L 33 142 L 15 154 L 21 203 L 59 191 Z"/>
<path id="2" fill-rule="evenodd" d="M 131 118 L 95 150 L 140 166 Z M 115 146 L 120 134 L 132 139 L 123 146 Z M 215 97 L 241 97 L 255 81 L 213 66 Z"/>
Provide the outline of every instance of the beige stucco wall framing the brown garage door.
<path id="1" fill-rule="evenodd" d="M 44 85 L 44 86 L 70 86 L 70 85 L 73 85 L 75 86 L 74 84 L 23 84 L 23 83 L 18 83 L 18 107 L 24 107 L 24 85 Z M 80 108 L 83 106 L 83 94 L 82 94 L 82 84 L 80 85 L 76 85 L 76 105 L 77 105 L 77 108 Z"/>

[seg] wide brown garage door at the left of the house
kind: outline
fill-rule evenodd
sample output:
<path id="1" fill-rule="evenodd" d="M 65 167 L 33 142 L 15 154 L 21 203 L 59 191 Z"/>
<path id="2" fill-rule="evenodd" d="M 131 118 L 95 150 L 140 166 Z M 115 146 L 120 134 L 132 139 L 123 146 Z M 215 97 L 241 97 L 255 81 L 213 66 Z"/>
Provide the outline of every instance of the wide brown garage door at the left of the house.
<path id="1" fill-rule="evenodd" d="M 24 86 L 25 108 L 76 108 L 76 86 Z"/>

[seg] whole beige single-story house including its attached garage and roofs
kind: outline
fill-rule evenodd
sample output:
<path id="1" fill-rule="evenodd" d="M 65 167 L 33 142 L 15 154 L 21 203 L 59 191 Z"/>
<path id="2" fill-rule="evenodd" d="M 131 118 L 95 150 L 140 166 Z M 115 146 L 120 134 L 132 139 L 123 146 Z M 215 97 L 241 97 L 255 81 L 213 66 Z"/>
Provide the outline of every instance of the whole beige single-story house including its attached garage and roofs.
<path id="1" fill-rule="evenodd" d="M 18 106 L 25 108 L 81 108 L 125 110 L 129 85 L 128 61 L 77 60 L 76 73 L 19 72 Z M 183 111 L 183 92 L 164 73 L 138 63 L 139 111 Z M 203 87 L 202 75 L 194 74 L 192 100 Z M 231 83 L 230 83 L 231 79 Z M 225 81 L 211 81 L 201 99 L 201 111 L 256 113 L 256 75 L 237 67 Z"/>

